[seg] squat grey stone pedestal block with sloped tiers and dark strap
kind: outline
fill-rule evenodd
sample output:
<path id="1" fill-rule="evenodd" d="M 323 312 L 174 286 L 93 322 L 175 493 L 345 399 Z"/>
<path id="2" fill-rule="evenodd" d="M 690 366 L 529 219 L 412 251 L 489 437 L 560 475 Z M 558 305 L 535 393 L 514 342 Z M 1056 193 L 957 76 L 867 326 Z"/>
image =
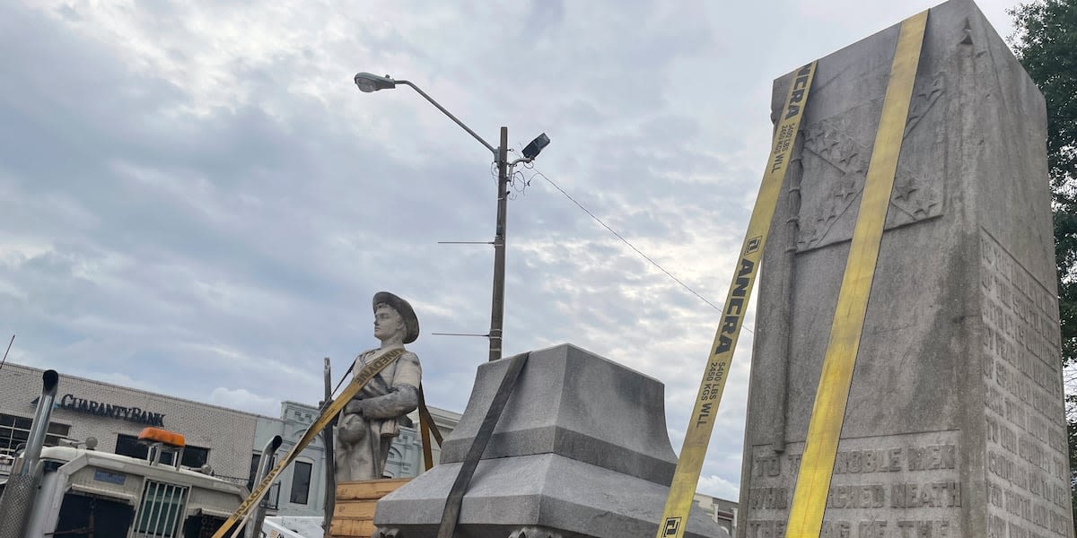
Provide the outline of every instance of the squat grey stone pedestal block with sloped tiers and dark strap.
<path id="1" fill-rule="evenodd" d="M 436 535 L 508 360 L 479 366 L 440 465 L 378 501 L 383 536 Z M 570 344 L 532 352 L 464 496 L 457 536 L 654 536 L 675 466 L 661 383 Z M 693 510 L 686 536 L 727 534 Z"/>

